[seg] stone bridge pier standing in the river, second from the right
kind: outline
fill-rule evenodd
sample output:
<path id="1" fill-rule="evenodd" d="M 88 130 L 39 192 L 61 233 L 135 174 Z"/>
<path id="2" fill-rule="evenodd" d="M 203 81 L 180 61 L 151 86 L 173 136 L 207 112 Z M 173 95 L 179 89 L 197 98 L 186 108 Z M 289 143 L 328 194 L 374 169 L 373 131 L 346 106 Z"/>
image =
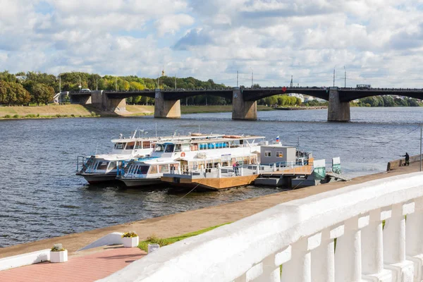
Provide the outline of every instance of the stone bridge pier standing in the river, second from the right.
<path id="1" fill-rule="evenodd" d="M 232 119 L 257 119 L 257 101 L 245 101 L 240 87 L 233 88 Z"/>

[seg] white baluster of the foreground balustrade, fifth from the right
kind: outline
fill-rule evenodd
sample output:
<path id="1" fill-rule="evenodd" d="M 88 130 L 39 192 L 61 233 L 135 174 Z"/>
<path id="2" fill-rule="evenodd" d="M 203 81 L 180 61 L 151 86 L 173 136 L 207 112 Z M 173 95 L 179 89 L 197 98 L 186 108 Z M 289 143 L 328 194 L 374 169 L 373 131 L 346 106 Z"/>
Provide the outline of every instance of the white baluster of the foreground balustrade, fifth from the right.
<path id="1" fill-rule="evenodd" d="M 330 229 L 321 232 L 321 243 L 312 251 L 312 281 L 335 281 L 335 244 Z"/>

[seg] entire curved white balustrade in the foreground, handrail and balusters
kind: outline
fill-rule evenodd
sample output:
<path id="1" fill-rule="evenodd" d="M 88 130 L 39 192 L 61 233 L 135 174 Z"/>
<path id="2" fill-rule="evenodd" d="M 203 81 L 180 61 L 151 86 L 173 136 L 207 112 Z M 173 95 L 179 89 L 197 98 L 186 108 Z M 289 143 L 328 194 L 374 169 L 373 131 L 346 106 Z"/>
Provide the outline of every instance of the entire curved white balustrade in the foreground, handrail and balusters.
<path id="1" fill-rule="evenodd" d="M 101 281 L 422 281 L 422 223 L 410 173 L 278 204 Z"/>

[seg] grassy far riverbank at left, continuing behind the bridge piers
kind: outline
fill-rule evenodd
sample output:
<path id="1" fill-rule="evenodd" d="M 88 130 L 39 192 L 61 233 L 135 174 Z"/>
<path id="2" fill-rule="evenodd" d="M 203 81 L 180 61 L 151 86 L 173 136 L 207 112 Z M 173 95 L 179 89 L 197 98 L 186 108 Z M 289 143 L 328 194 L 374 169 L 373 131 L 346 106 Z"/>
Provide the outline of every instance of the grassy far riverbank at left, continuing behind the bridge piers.
<path id="1" fill-rule="evenodd" d="M 204 114 L 231 112 L 231 105 L 180 106 L 181 114 Z M 257 111 L 274 111 L 270 106 L 258 105 Z M 24 118 L 87 118 L 87 117 L 126 117 L 152 116 L 154 105 L 127 105 L 121 114 L 100 111 L 92 105 L 49 104 L 44 106 L 0 106 L 0 120 Z"/>

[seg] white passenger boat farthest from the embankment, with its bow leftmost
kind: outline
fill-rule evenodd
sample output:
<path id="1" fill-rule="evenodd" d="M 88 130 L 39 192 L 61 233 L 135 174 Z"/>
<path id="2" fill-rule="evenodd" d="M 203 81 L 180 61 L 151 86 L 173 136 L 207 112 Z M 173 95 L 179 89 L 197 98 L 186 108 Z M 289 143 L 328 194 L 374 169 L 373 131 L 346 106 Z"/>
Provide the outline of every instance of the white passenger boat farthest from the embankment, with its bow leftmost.
<path id="1" fill-rule="evenodd" d="M 119 139 L 111 140 L 114 148 L 109 154 L 92 155 L 90 157 L 78 156 L 77 175 L 82 176 L 90 184 L 106 183 L 116 180 L 118 171 L 125 168 L 131 159 L 149 157 L 154 149 L 154 144 L 164 140 L 192 140 L 202 138 L 203 135 L 172 135 L 164 137 L 142 137 L 143 130 L 135 130 L 129 137 L 122 135 Z M 138 134 L 138 136 L 137 136 Z M 220 137 L 222 135 L 207 135 Z M 82 164 L 82 166 L 80 166 Z"/>

